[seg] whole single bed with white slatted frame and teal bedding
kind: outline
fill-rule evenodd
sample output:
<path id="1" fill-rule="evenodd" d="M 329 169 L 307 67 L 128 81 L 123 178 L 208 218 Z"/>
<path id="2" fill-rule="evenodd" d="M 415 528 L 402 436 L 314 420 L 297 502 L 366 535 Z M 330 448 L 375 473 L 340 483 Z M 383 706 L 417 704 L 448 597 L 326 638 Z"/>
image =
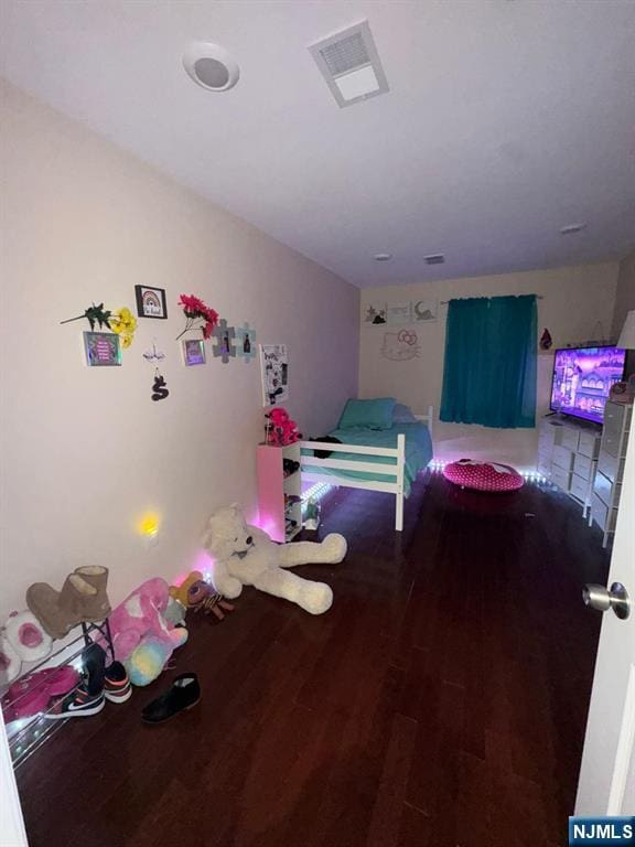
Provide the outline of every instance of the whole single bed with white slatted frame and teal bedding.
<path id="1" fill-rule="evenodd" d="M 351 489 L 395 495 L 395 529 L 403 528 L 403 500 L 417 474 L 432 459 L 433 408 L 412 415 L 411 422 L 394 422 L 386 429 L 349 427 L 329 435 L 342 443 L 301 441 L 302 481 L 325 482 Z M 319 459 L 314 451 L 330 451 Z"/>

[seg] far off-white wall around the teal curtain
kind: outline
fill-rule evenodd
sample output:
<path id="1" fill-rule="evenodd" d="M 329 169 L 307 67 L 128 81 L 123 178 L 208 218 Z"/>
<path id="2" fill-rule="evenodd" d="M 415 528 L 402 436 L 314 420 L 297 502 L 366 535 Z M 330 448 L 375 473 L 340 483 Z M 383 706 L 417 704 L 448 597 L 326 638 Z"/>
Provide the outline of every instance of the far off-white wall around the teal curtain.
<path id="1" fill-rule="evenodd" d="M 495 277 L 450 279 L 362 291 L 360 317 L 364 321 L 369 303 L 423 298 L 450 300 L 456 297 L 496 297 L 502 294 L 541 294 L 538 301 L 538 332 L 545 326 L 553 339 L 553 349 L 569 342 L 598 337 L 611 331 L 617 264 L 505 274 Z M 386 331 L 391 326 L 362 324 L 359 354 L 359 393 L 362 397 L 395 396 L 422 411 L 434 404 L 437 417 L 441 403 L 446 305 L 439 307 L 435 323 L 417 324 L 420 357 L 410 362 L 392 362 L 380 355 Z M 538 414 L 549 406 L 552 355 L 538 357 Z M 441 459 L 462 457 L 497 459 L 520 468 L 535 464 L 536 430 L 488 429 L 475 425 L 435 422 L 434 449 Z"/>

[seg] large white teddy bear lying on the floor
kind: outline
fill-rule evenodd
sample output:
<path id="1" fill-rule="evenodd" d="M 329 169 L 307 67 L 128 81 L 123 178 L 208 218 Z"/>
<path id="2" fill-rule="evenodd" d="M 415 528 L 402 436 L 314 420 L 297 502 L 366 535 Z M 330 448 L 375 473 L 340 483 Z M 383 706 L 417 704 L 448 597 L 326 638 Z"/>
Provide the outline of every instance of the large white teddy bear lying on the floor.
<path id="1" fill-rule="evenodd" d="M 238 597 L 243 586 L 255 586 L 282 597 L 311 614 L 322 614 L 333 603 L 333 591 L 284 568 L 309 562 L 335 565 L 346 555 L 346 539 L 332 533 L 320 544 L 276 544 L 267 533 L 248 526 L 240 507 L 224 506 L 209 518 L 203 546 L 215 559 L 214 586 L 228 599 Z"/>

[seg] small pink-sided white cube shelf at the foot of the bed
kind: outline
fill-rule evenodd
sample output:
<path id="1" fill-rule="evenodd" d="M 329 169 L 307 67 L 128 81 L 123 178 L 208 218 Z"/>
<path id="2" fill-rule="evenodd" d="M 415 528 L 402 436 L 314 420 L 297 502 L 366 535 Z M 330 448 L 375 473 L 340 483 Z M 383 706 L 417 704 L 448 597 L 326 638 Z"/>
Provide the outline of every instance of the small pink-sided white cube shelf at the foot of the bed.
<path id="1" fill-rule="evenodd" d="M 294 473 L 286 473 L 284 460 L 295 463 Z M 260 526 L 275 542 L 290 542 L 302 529 L 301 493 L 300 446 L 258 444 Z"/>

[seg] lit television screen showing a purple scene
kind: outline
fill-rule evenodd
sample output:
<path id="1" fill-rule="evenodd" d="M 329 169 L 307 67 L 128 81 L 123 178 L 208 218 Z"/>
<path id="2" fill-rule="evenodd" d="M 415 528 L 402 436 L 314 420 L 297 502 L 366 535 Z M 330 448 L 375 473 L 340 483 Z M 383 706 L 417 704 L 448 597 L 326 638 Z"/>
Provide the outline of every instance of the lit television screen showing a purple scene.
<path id="1" fill-rule="evenodd" d="M 624 376 L 622 347 L 557 350 L 551 383 L 552 411 L 602 424 L 604 404 L 614 383 Z"/>

